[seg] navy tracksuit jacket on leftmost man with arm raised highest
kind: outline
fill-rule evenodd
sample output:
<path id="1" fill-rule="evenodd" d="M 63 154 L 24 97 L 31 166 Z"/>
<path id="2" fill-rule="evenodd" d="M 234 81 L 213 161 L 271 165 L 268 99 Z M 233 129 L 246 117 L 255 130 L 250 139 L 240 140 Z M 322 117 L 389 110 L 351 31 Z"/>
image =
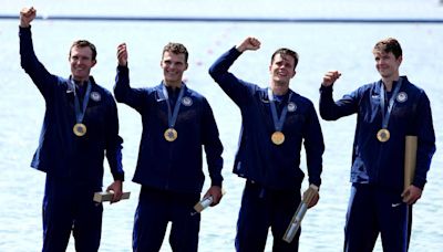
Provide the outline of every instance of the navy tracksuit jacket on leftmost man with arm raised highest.
<path id="1" fill-rule="evenodd" d="M 124 179 L 119 136 L 119 118 L 114 98 L 90 77 L 91 95 L 84 114 L 86 134 L 73 133 L 76 123 L 74 85 L 69 78 L 49 73 L 38 61 L 30 29 L 20 29 L 21 64 L 45 101 L 45 113 L 39 147 L 31 166 L 55 177 L 72 177 L 102 186 L 103 160 L 107 156 L 114 179 Z"/>

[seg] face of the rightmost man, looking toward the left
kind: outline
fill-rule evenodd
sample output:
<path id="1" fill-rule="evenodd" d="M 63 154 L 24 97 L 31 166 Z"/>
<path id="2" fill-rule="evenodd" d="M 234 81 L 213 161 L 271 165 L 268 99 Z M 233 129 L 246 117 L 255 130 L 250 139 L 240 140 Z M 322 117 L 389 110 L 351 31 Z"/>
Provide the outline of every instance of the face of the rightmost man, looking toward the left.
<path id="1" fill-rule="evenodd" d="M 375 60 L 375 69 L 384 78 L 389 78 L 399 74 L 399 67 L 402 62 L 402 56 L 395 59 L 392 52 L 385 53 L 375 51 L 373 53 Z"/>

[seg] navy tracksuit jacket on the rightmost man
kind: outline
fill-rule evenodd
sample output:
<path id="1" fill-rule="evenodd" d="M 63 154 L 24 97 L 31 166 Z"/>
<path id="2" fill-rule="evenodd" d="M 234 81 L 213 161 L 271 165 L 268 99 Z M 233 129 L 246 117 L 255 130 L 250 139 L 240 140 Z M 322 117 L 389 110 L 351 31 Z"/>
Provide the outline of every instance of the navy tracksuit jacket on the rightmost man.
<path id="1" fill-rule="evenodd" d="M 382 82 L 361 86 L 334 102 L 332 87 L 320 88 L 320 115 L 336 120 L 357 114 L 351 181 L 374 183 L 401 193 L 404 178 L 404 143 L 406 135 L 418 136 L 416 169 L 413 185 L 422 188 L 435 153 L 435 134 L 430 101 L 423 90 L 403 77 L 398 101 L 388 124 L 390 139 L 381 143 L 377 132 L 382 126 L 380 92 Z M 395 84 L 395 83 L 394 83 Z"/>

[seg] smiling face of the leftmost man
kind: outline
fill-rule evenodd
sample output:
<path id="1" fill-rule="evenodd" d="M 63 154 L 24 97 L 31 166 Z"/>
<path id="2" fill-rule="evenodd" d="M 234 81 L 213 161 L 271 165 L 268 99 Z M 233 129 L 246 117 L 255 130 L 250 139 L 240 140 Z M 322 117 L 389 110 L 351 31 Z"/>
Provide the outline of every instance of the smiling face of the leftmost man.
<path id="1" fill-rule="evenodd" d="M 92 60 L 92 50 L 89 46 L 73 46 L 69 57 L 72 77 L 75 81 L 87 81 L 91 69 L 96 61 Z"/>

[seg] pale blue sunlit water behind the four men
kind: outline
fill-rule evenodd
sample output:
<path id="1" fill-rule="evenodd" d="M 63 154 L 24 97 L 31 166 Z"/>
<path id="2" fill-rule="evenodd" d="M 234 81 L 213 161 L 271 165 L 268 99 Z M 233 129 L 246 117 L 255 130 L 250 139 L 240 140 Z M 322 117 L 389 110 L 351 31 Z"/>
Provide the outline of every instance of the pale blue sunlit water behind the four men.
<path id="1" fill-rule="evenodd" d="M 48 3 L 50 1 L 37 2 L 44 3 L 43 6 L 50 10 L 56 9 L 59 13 L 66 12 L 65 9 L 58 9 L 58 3 L 51 6 Z M 80 1 L 80 3 L 85 2 Z M 109 2 L 115 3 L 116 1 Z M 196 2 L 190 1 L 190 7 Z M 214 1 L 210 2 L 215 4 Z M 300 3 L 300 1 L 297 2 Z M 312 9 L 319 7 L 319 2 L 313 1 Z M 380 3 L 380 1 L 374 2 Z M 413 1 L 405 2 L 411 7 Z M 431 1 L 423 2 L 430 3 Z M 9 8 L 19 3 L 10 3 Z M 79 10 L 75 9 L 78 6 L 73 1 L 70 4 L 73 10 Z M 97 4 L 95 3 L 95 6 Z M 128 4 L 128 9 L 133 10 L 131 13 L 143 12 L 134 8 L 134 4 Z M 171 2 L 168 4 L 172 7 Z M 143 8 L 145 7 L 143 6 Z M 156 6 L 157 9 L 159 7 Z M 339 13 L 337 10 L 340 7 L 346 10 L 344 4 L 333 7 L 336 15 Z M 429 4 L 426 7 L 429 8 Z M 223 14 L 229 14 L 225 6 L 220 8 L 224 10 Z M 253 12 L 262 14 L 267 8 L 275 10 L 277 14 L 287 11 L 281 10 L 285 7 L 274 7 L 268 2 L 268 4 L 261 4 L 261 9 Z M 307 7 L 305 6 L 305 8 Z M 356 8 L 356 3 L 350 4 L 350 8 Z M 377 13 L 377 8 L 373 6 L 371 8 L 369 8 L 372 11 L 370 13 Z M 404 7 L 399 8 L 405 9 Z M 92 12 L 92 9 L 94 8 L 86 9 L 86 12 Z M 6 10 L 11 9 L 7 8 Z M 192 10 L 193 13 L 197 12 L 195 9 Z M 204 10 L 206 9 L 202 9 L 199 13 L 207 13 Z M 104 12 L 103 10 L 97 11 Z M 147 12 L 152 13 L 153 10 L 147 10 Z M 410 10 L 410 12 L 412 11 Z M 156 13 L 165 14 L 166 12 Z M 319 14 L 319 12 L 316 13 Z M 233 11 L 233 14 L 239 15 L 240 11 Z M 109 90 L 112 90 L 114 84 L 115 49 L 119 43 L 126 42 L 128 45 L 133 86 L 152 86 L 161 81 L 159 60 L 164 44 L 177 41 L 188 48 L 190 52 L 189 69 L 185 74 L 187 84 L 208 98 L 225 146 L 226 165 L 223 174 L 227 195 L 218 207 L 203 212 L 199 249 L 204 252 L 234 251 L 235 225 L 244 185 L 243 179 L 230 172 L 240 127 L 240 114 L 234 103 L 207 74 L 207 70 L 215 59 L 247 35 L 258 38 L 262 43 L 261 49 L 257 52 L 246 52 L 235 63 L 231 71 L 241 78 L 267 86 L 270 54 L 280 46 L 295 49 L 300 54 L 300 62 L 291 88 L 309 97 L 317 105 L 318 88 L 326 71 L 337 69 L 342 72 L 342 77 L 334 87 L 334 96 L 338 98 L 364 83 L 379 78 L 371 49 L 382 38 L 398 38 L 404 53 L 401 73 L 408 75 L 413 83 L 426 91 L 431 99 L 437 137 L 437 153 L 429 172 L 429 183 L 422 199 L 414 207 L 410 251 L 442 250 L 443 197 L 440 189 L 443 186 L 441 180 L 443 158 L 440 149 L 443 140 L 441 130 L 443 125 L 441 83 L 443 80 L 440 73 L 443 69 L 441 61 L 443 59 L 441 49 L 443 25 L 38 20 L 33 23 L 32 31 L 35 52 L 40 60 L 50 72 L 64 76 L 70 73 L 68 51 L 72 41 L 85 38 L 94 42 L 99 55 L 97 65 L 93 69 L 92 74 L 100 84 Z M 2 62 L 0 65 L 0 76 L 2 77 L 0 85 L 0 94 L 2 94 L 0 99 L 0 251 L 24 252 L 39 251 L 42 243 L 41 200 L 44 175 L 30 169 L 29 164 L 38 144 L 44 103 L 31 80 L 20 67 L 17 33 L 18 20 L 0 21 L 0 41 L 2 41 L 0 53 Z M 121 135 L 125 140 L 123 162 L 127 181 L 124 189 L 131 191 L 132 197 L 117 204 L 104 206 L 101 251 L 110 252 L 131 250 L 133 216 L 140 191 L 138 185 L 131 182 L 131 178 L 134 174 L 138 151 L 141 119 L 136 112 L 125 105 L 119 104 L 119 113 Z M 321 198 L 319 204 L 309 210 L 303 220 L 300 251 L 341 250 L 350 188 L 349 170 L 354 124 L 354 117 L 334 123 L 321 120 L 327 146 L 323 157 Z M 302 162 L 302 169 L 306 170 L 305 162 Z M 109 170 L 106 170 L 104 183 L 109 185 L 111 180 Z M 206 183 L 204 190 L 207 187 Z M 267 251 L 270 251 L 269 243 L 270 240 Z M 68 251 L 74 251 L 72 242 Z M 165 239 L 162 251 L 171 251 L 167 239 Z M 375 251 L 381 251 L 380 243 L 377 244 Z"/>

